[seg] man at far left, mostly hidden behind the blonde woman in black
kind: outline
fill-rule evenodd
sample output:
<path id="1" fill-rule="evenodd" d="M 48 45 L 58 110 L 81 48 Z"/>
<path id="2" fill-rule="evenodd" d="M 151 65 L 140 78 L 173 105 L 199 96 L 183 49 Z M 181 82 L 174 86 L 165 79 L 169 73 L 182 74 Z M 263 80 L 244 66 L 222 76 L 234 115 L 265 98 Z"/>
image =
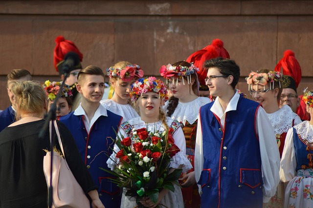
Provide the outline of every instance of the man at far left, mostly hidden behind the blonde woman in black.
<path id="1" fill-rule="evenodd" d="M 13 69 L 6 76 L 8 95 L 12 105 L 0 112 L 0 131 L 15 122 L 15 98 L 11 92 L 12 81 L 30 81 L 31 79 L 29 71 L 25 69 Z"/>

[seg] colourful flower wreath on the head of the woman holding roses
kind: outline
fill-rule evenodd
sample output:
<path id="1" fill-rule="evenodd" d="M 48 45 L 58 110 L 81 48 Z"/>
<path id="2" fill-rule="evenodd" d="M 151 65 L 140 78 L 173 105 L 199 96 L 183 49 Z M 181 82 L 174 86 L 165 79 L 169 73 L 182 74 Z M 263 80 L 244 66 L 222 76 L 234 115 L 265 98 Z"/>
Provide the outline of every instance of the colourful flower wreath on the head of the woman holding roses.
<path id="1" fill-rule="evenodd" d="M 149 77 L 146 79 L 140 78 L 132 84 L 130 92 L 131 101 L 135 103 L 140 96 L 147 92 L 156 92 L 160 99 L 168 99 L 165 84 L 155 77 Z"/>

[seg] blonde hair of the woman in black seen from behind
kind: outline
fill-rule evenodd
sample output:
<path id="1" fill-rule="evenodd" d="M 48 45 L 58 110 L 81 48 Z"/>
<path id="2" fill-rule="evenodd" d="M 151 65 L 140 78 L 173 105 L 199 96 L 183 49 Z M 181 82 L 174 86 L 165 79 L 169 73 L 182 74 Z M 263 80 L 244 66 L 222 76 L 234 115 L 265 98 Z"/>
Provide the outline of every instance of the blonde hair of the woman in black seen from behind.
<path id="1" fill-rule="evenodd" d="M 17 104 L 16 119 L 21 113 L 42 113 L 46 102 L 46 93 L 39 82 L 12 81 L 11 91 Z"/>

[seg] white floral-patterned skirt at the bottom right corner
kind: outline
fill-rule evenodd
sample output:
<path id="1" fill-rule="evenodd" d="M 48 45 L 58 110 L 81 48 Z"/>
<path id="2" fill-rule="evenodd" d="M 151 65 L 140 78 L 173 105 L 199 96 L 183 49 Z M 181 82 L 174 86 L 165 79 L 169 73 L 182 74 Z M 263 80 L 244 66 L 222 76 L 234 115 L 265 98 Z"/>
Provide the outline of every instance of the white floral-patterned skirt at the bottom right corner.
<path id="1" fill-rule="evenodd" d="M 313 208 L 313 169 L 300 169 L 286 187 L 285 208 Z"/>

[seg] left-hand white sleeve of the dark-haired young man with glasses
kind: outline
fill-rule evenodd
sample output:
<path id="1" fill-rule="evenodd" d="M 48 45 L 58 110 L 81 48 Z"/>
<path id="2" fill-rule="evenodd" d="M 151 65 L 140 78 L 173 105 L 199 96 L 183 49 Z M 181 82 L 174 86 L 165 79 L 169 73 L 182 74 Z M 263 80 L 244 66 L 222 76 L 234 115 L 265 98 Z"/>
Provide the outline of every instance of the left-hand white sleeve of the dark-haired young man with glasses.
<path id="1" fill-rule="evenodd" d="M 198 126 L 197 126 L 197 137 L 196 137 L 196 147 L 195 147 L 195 177 L 196 181 L 200 180 L 201 172 L 203 169 L 204 158 L 203 158 L 203 148 L 202 148 L 202 127 L 200 122 L 200 116 L 198 116 Z M 201 192 L 201 186 L 198 185 L 199 193 Z"/>

